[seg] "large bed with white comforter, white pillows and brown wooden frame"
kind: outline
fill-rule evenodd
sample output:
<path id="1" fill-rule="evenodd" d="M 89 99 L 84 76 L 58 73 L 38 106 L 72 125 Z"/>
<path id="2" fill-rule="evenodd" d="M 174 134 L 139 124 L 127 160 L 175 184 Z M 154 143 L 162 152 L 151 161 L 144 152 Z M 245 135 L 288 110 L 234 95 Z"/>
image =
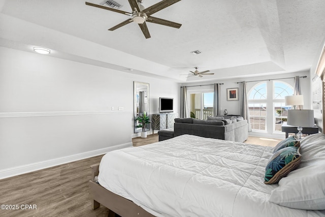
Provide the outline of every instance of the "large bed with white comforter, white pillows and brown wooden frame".
<path id="1" fill-rule="evenodd" d="M 114 150 L 92 166 L 92 206 L 125 217 L 325 216 L 325 135 L 301 140 L 298 168 L 265 184 L 273 151 L 193 135 Z"/>

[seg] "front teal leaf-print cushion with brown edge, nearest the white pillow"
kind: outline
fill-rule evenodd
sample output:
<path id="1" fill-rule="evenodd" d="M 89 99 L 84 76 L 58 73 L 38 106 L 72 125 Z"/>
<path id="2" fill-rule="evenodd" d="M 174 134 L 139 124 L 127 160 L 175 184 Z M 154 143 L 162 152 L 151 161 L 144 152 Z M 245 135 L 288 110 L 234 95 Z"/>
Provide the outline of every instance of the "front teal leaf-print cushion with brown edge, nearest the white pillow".
<path id="1" fill-rule="evenodd" d="M 300 163 L 300 147 L 289 146 L 276 151 L 265 169 L 266 184 L 275 184 L 295 170 Z"/>

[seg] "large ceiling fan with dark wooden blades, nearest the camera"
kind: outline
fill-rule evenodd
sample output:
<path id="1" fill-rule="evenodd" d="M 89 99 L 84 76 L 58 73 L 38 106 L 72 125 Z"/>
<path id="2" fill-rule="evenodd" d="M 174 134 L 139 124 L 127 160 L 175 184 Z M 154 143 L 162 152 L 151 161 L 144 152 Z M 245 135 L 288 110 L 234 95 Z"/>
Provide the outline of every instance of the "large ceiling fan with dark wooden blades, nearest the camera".
<path id="1" fill-rule="evenodd" d="M 123 25 L 126 25 L 126 24 L 134 21 L 139 24 L 143 35 L 146 37 L 146 39 L 148 39 L 151 36 L 150 36 L 146 22 L 157 23 L 160 25 L 167 25 L 167 26 L 174 27 L 174 28 L 181 27 L 182 24 L 151 16 L 151 14 L 154 14 L 160 10 L 163 10 L 164 8 L 167 8 L 168 6 L 171 6 L 179 1 L 181 1 L 181 0 L 163 0 L 161 2 L 158 2 L 158 3 L 150 6 L 149 8 L 144 8 L 142 5 L 140 5 L 143 2 L 143 0 L 128 0 L 128 3 L 130 4 L 131 9 L 132 9 L 131 13 L 126 12 L 126 11 L 117 10 L 114 8 L 105 7 L 102 5 L 96 5 L 96 4 L 89 3 L 89 2 L 86 2 L 86 5 L 131 16 L 129 19 L 113 26 L 112 28 L 110 28 L 108 30 L 113 31 Z"/>

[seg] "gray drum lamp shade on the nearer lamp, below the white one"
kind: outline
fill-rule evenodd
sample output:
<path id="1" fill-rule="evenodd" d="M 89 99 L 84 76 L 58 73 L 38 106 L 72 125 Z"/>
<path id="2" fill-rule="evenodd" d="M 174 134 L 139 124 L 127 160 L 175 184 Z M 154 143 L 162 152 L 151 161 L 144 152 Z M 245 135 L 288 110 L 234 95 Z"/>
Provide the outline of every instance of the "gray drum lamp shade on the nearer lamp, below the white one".
<path id="1" fill-rule="evenodd" d="M 314 127 L 314 110 L 288 110 L 287 125 L 296 127 Z"/>

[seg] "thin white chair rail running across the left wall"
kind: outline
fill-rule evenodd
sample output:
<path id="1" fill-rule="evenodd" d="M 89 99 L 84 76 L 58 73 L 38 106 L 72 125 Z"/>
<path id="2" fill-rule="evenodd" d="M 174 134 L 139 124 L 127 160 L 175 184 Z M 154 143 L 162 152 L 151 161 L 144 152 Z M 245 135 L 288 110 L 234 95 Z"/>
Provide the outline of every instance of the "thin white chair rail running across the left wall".
<path id="1" fill-rule="evenodd" d="M 133 111 L 47 111 L 47 112 L 0 112 L 0 118 L 5 117 L 44 117 L 44 116 L 68 116 L 89 114 L 120 114 L 133 113 Z"/>

